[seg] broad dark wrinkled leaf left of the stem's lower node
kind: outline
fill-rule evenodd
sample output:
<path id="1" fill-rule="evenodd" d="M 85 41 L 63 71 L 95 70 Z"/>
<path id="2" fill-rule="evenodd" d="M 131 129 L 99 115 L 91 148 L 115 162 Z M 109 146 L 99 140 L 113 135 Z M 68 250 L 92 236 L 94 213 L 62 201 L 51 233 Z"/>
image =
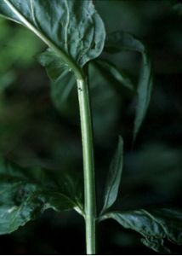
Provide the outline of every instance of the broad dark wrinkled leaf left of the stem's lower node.
<path id="1" fill-rule="evenodd" d="M 77 177 L 0 160 L 0 234 L 8 234 L 48 208 L 82 212 Z"/>

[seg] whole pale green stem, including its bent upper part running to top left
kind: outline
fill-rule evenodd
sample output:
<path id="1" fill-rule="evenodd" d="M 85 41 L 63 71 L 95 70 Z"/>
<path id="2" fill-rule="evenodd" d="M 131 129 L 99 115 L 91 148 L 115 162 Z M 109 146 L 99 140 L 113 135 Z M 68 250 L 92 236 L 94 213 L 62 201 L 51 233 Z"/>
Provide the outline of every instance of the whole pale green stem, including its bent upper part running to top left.
<path id="1" fill-rule="evenodd" d="M 0 0 L 1 1 L 1 0 Z M 82 157 L 84 171 L 84 197 L 85 197 L 85 223 L 86 223 L 86 243 L 87 253 L 95 254 L 95 218 L 96 218 L 96 199 L 94 184 L 94 147 L 92 118 L 90 113 L 90 102 L 88 96 L 88 84 L 82 69 L 77 66 L 75 61 L 68 56 L 64 50 L 60 49 L 51 38 L 48 38 L 43 32 L 33 26 L 24 15 L 9 0 L 4 0 L 9 9 L 16 15 L 20 22 L 34 32 L 38 38 L 41 38 L 48 47 L 54 49 L 55 53 L 60 56 L 62 61 L 71 67 L 77 78 L 77 90 L 80 105 L 80 118 L 82 128 Z M 16 20 L 15 20 L 16 21 Z"/>

